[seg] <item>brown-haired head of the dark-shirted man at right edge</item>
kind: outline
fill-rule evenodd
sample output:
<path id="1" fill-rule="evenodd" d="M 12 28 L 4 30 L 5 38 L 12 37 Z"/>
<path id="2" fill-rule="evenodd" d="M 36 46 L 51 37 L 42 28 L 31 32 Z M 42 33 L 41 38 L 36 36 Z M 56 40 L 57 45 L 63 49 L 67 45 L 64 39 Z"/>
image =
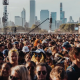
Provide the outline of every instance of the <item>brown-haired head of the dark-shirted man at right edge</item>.
<path id="1" fill-rule="evenodd" d="M 71 60 L 76 60 L 80 63 L 80 48 L 79 47 L 73 47 L 71 51 L 69 52 L 69 56 Z"/>

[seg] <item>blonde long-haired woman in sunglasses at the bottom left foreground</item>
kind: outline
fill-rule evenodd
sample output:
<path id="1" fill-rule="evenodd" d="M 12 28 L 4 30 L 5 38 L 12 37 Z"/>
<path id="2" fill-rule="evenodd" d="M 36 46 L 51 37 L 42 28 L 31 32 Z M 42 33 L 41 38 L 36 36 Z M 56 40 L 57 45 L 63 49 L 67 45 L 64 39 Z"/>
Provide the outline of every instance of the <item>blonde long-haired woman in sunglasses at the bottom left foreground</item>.
<path id="1" fill-rule="evenodd" d="M 9 80 L 31 80 L 27 68 L 24 65 L 18 65 L 11 69 Z"/>

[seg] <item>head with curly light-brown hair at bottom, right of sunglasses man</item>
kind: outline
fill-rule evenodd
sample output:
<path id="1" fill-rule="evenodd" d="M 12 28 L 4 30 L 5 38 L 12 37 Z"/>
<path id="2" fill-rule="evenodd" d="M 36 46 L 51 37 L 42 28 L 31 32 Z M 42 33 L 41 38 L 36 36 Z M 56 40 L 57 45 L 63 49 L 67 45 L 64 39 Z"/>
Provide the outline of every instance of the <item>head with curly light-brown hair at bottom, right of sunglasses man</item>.
<path id="1" fill-rule="evenodd" d="M 51 70 L 50 77 L 52 80 L 67 80 L 66 72 L 60 66 L 56 66 Z"/>

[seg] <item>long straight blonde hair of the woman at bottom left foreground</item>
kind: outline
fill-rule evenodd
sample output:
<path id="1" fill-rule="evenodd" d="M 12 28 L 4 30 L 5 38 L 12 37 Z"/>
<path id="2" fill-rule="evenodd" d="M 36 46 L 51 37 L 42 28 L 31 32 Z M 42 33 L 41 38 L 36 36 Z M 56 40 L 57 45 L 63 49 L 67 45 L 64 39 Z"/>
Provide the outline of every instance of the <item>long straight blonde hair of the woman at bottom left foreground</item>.
<path id="1" fill-rule="evenodd" d="M 24 65 L 15 66 L 11 69 L 12 71 L 17 72 L 21 80 L 31 80 L 28 70 Z"/>

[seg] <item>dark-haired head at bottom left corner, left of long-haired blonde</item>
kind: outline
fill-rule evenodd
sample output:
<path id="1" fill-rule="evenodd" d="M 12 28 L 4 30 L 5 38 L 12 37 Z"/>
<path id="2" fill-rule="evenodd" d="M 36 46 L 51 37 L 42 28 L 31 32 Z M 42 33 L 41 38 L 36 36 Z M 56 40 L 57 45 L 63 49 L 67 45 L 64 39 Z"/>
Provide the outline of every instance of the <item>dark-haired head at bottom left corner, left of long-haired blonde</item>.
<path id="1" fill-rule="evenodd" d="M 10 68 L 12 65 L 10 63 L 4 63 L 1 67 L 1 76 L 2 77 L 9 77 Z"/>

